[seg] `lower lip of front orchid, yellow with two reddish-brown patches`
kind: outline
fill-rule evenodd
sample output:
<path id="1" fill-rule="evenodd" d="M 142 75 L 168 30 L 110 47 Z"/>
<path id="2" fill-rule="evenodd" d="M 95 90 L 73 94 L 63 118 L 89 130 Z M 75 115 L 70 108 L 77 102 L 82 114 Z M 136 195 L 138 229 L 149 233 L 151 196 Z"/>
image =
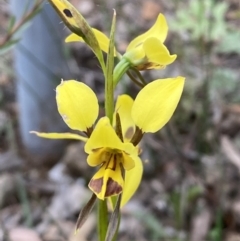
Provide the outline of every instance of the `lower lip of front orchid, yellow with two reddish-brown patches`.
<path id="1" fill-rule="evenodd" d="M 117 163 L 115 170 L 108 168 L 108 165 L 108 162 L 102 165 L 88 184 L 89 188 L 102 200 L 104 200 L 105 197 L 120 194 L 123 189 L 120 164 Z"/>

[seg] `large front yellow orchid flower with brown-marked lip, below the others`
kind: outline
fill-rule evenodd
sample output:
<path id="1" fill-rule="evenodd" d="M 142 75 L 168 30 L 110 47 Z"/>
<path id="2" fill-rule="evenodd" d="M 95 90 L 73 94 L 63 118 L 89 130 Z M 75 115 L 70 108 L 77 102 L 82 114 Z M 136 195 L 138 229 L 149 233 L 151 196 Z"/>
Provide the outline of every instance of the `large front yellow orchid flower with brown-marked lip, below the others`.
<path id="1" fill-rule="evenodd" d="M 183 77 L 155 80 L 146 85 L 135 101 L 128 95 L 118 97 L 115 115 L 119 115 L 120 131 L 107 117 L 98 117 L 95 93 L 84 83 L 62 81 L 56 89 L 58 111 L 65 123 L 87 137 L 72 133 L 39 133 L 44 138 L 77 139 L 86 142 L 85 152 L 90 166 L 100 166 L 89 183 L 99 199 L 122 194 L 121 206 L 137 190 L 143 172 L 137 144 L 146 132 L 156 132 L 171 118 L 184 85 Z M 125 173 L 125 175 L 124 175 Z"/>

